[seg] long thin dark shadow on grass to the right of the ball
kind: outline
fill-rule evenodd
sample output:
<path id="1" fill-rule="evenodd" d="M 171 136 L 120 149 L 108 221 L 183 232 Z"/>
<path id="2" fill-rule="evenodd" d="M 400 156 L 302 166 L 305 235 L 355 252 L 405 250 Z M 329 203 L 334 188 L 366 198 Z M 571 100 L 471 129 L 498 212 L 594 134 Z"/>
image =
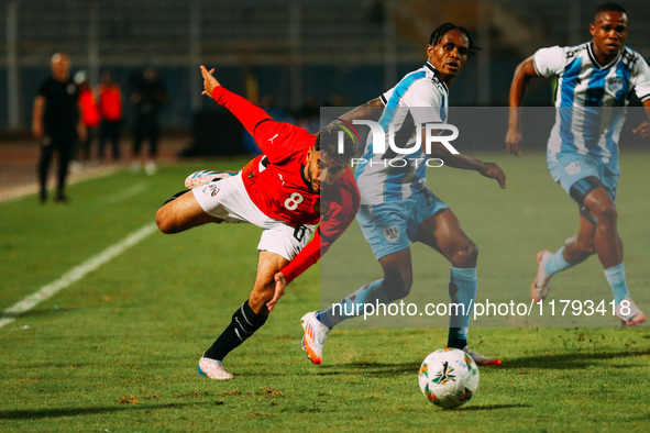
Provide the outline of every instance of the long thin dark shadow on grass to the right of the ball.
<path id="1" fill-rule="evenodd" d="M 511 359 L 502 359 L 504 364 L 495 368 L 548 368 L 548 369 L 568 369 L 568 368 L 585 368 L 594 365 L 598 360 L 607 360 L 615 358 L 629 358 L 638 356 L 649 356 L 650 351 L 619 351 L 619 352 L 601 352 L 601 353 L 584 353 L 575 352 L 571 354 L 550 354 L 536 356 L 521 356 Z M 646 365 L 646 363 L 643 363 Z"/>

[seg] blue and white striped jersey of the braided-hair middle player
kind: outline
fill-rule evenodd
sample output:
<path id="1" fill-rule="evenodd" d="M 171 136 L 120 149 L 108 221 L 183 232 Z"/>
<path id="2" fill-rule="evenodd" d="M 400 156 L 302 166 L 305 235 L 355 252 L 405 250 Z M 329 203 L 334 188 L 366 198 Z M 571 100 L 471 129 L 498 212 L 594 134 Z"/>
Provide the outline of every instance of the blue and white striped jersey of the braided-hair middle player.
<path id="1" fill-rule="evenodd" d="M 396 153 L 389 147 L 388 130 L 390 126 L 395 136 L 406 135 L 405 143 L 398 140 L 395 143 L 398 147 L 410 148 L 416 144 L 417 125 L 444 123 L 449 110 L 449 89 L 430 63 L 407 74 L 381 98 L 385 108 L 379 124 L 386 137 L 386 152 L 376 153 L 372 134 L 368 134 L 361 157 L 363 163 L 354 174 L 362 204 L 405 200 L 426 187 L 429 156 L 423 152 L 423 143 L 412 154 Z"/>

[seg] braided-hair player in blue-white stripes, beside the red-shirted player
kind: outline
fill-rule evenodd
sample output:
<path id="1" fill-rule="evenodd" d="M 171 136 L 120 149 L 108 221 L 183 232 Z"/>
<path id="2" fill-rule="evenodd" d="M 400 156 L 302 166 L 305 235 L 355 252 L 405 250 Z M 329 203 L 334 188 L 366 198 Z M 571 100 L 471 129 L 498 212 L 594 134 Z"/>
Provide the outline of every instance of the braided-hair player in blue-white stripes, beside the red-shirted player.
<path id="1" fill-rule="evenodd" d="M 329 331 L 343 320 L 357 317 L 364 304 L 387 304 L 405 298 L 412 284 L 410 242 L 421 242 L 438 251 L 451 264 L 449 295 L 454 304 L 464 306 L 465 314 L 451 314 L 448 346 L 464 349 L 478 365 L 499 365 L 500 360 L 482 356 L 467 347 L 470 311 L 476 297 L 476 260 L 478 251 L 463 232 L 455 214 L 426 185 L 425 160 L 438 157 L 444 165 L 478 171 L 496 179 L 505 188 L 506 176 L 494 163 L 484 163 L 469 155 L 451 154 L 441 143 L 425 154 L 416 145 L 426 142 L 426 129 L 415 125 L 447 121 L 449 86 L 467 62 L 474 48 L 469 32 L 452 23 L 439 26 L 427 46 L 428 62 L 420 69 L 406 75 L 393 89 L 343 116 L 343 120 L 365 118 L 364 107 L 383 108 L 379 124 L 384 132 L 406 131 L 404 149 L 378 151 L 383 144 L 368 140 L 363 164 L 356 167 L 355 178 L 361 193 L 361 209 L 356 216 L 365 238 L 371 244 L 384 278 L 372 281 L 323 311 L 302 318 L 302 347 L 315 364 L 322 362 L 322 347 Z M 412 133 L 411 133 L 412 131 Z M 393 164 L 386 164 L 389 158 Z M 416 159 L 420 164 L 411 164 Z M 338 306 L 338 307 L 339 307 Z"/>

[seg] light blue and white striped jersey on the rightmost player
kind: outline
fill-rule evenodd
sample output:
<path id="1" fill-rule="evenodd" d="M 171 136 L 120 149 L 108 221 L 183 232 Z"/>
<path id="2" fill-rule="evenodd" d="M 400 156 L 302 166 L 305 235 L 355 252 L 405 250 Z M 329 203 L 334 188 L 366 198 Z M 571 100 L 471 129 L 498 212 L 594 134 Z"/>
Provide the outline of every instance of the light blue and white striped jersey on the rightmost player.
<path id="1" fill-rule="evenodd" d="M 646 60 L 624 46 L 612 63 L 601 65 L 591 42 L 541 48 L 532 60 L 538 75 L 558 76 L 559 109 L 549 137 L 549 157 L 588 154 L 618 171 L 618 138 L 631 92 L 641 101 L 650 99 Z"/>

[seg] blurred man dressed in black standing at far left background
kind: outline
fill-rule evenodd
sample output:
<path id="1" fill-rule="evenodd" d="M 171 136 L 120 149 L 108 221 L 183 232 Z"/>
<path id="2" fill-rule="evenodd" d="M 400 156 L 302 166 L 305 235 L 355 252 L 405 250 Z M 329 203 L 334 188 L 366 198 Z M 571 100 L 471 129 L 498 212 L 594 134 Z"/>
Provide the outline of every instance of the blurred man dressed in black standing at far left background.
<path id="1" fill-rule="evenodd" d="M 34 100 L 32 132 L 41 141 L 38 163 L 40 199 L 47 201 L 47 171 L 54 151 L 58 153 L 56 201 L 66 202 L 65 181 L 68 164 L 77 140 L 84 138 L 86 127 L 80 119 L 79 92 L 70 78 L 70 58 L 56 53 L 51 60 L 52 77 L 38 88 Z"/>

